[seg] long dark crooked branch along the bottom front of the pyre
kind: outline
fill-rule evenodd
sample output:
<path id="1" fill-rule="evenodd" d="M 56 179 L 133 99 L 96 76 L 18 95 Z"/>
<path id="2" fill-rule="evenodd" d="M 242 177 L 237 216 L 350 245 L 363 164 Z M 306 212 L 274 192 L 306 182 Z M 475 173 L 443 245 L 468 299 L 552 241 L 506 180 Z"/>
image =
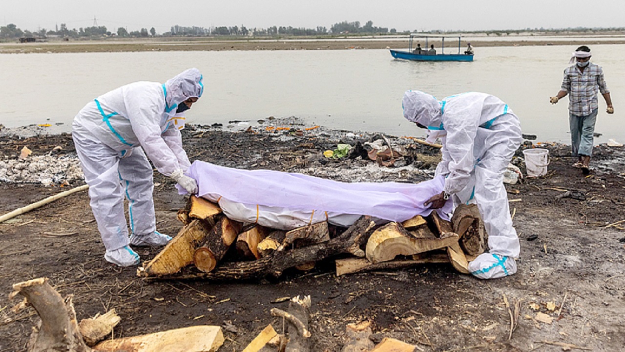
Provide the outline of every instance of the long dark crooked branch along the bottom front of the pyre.
<path id="1" fill-rule="evenodd" d="M 369 216 L 362 216 L 349 229 L 330 241 L 312 246 L 292 249 L 291 251 L 274 251 L 271 255 L 257 261 L 224 262 L 212 272 L 184 272 L 148 279 L 209 279 L 238 280 L 259 279 L 265 276 L 280 276 L 282 271 L 300 264 L 320 261 L 327 257 L 347 253 L 351 246 L 362 246 L 367 241 L 367 234 L 375 223 Z"/>

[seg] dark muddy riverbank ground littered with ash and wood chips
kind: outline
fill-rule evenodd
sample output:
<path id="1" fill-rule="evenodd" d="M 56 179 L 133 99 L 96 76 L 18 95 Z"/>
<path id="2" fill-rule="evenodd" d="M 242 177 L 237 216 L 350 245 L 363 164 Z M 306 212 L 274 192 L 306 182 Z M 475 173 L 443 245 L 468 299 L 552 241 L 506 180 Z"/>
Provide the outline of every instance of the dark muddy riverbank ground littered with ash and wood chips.
<path id="1" fill-rule="evenodd" d="M 347 182 L 419 182 L 432 175 L 437 151 L 389 137 L 409 152 L 397 167 L 385 168 L 356 159 L 328 160 L 322 152 L 336 143 L 371 142 L 374 134 L 254 127 L 254 133 L 227 128 L 189 127 L 184 143 L 191 160 L 227 167 L 271 168 Z M 297 132 L 299 130 L 300 132 Z M 32 156 L 73 156 L 70 135 L 0 137 L 3 158 L 16 158 L 27 146 Z M 70 195 L 0 224 L 0 351 L 23 351 L 36 323 L 32 308 L 14 313 L 8 300 L 11 284 L 49 277 L 63 295 L 73 294 L 79 319 L 116 309 L 121 323 L 114 337 L 134 336 L 196 324 L 224 327 L 219 351 L 241 351 L 267 324 L 281 331 L 269 314 L 286 309 L 285 296 L 310 295 L 314 351 L 340 351 L 348 323 L 372 321 L 376 341 L 389 336 L 415 344 L 421 351 L 495 350 L 559 351 L 575 344 L 592 351 L 625 346 L 625 232 L 606 225 L 623 220 L 625 152 L 599 146 L 594 170 L 583 177 L 572 168 L 569 148 L 543 143 L 551 164 L 545 177 L 507 185 L 514 225 L 521 239 L 519 271 L 505 279 L 480 281 L 447 264 L 368 272 L 336 277 L 334 263 L 319 263 L 310 272 L 286 272 L 279 279 L 246 282 L 145 282 L 136 267 L 119 268 L 104 261 L 86 192 Z M 426 157 L 419 157 L 424 153 Z M 427 157 L 430 155 L 430 157 Z M 406 166 L 402 166 L 406 164 Z M 155 173 L 158 229 L 176 234 L 176 211 L 185 199 L 172 182 Z M 0 214 L 57 194 L 69 186 L 0 184 Z M 557 198 L 573 190 L 584 200 Z M 581 197 L 583 195 L 583 197 Z M 158 248 L 137 248 L 151 259 Z M 521 301 L 521 318 L 509 339 L 505 299 Z M 534 319 L 545 313 L 551 323 Z"/>

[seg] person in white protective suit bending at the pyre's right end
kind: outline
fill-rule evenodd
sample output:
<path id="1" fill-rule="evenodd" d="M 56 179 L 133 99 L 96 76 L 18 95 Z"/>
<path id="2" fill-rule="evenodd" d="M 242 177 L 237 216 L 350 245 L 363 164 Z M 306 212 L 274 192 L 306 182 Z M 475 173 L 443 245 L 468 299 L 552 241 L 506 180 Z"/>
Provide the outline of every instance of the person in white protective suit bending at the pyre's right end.
<path id="1" fill-rule="evenodd" d="M 519 238 L 503 184 L 503 173 L 521 145 L 521 126 L 507 104 L 485 93 L 462 93 L 442 101 L 421 91 L 406 91 L 404 117 L 441 138 L 442 161 L 436 175 L 445 179 L 444 192 L 426 202 L 442 207 L 451 195 L 454 208 L 476 203 L 488 234 L 490 252 L 469 263 L 481 279 L 516 272 Z"/>

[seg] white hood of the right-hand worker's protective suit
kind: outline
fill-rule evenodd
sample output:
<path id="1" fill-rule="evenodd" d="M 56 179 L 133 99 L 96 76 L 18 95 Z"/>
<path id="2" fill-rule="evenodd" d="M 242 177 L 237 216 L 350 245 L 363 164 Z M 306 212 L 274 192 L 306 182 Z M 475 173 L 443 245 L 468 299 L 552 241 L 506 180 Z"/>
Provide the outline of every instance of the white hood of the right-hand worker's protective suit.
<path id="1" fill-rule="evenodd" d="M 441 128 L 441 106 L 434 96 L 422 91 L 409 90 L 404 93 L 402 105 L 406 120 L 418 122 L 428 127 L 428 130 L 430 127 L 432 129 Z"/>

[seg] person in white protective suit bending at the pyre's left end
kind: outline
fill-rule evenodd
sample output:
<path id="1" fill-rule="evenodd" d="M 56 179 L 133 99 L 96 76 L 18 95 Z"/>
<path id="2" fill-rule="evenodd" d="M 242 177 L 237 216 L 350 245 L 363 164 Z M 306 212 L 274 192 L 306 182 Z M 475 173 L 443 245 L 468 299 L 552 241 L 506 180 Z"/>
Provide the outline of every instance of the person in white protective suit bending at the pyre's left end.
<path id="1" fill-rule="evenodd" d="M 191 163 L 180 130 L 183 111 L 191 108 L 203 90 L 201 73 L 191 68 L 165 84 L 141 81 L 109 91 L 74 118 L 72 136 L 107 261 L 118 266 L 139 264 L 129 244 L 161 246 L 171 239 L 156 231 L 148 158 L 163 175 L 190 194 L 196 192 L 196 181 L 184 175 Z M 129 202 L 130 237 L 124 196 Z"/>

